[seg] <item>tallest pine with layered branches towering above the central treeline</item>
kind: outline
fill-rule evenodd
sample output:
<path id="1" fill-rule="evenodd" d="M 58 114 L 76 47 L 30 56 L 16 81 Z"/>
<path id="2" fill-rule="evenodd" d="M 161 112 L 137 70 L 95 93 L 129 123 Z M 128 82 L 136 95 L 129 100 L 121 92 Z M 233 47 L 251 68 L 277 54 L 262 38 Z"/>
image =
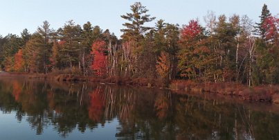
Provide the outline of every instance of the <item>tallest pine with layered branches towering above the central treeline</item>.
<path id="1" fill-rule="evenodd" d="M 126 15 L 121 15 L 123 19 L 129 22 L 123 24 L 126 28 L 121 29 L 123 35 L 123 56 L 125 56 L 125 61 L 128 62 L 125 68 L 128 73 L 132 73 L 133 76 L 140 76 L 143 71 L 145 71 L 145 56 L 148 51 L 147 48 L 151 49 L 152 46 L 148 46 L 149 42 L 145 42 L 145 33 L 147 30 L 152 28 L 144 26 L 146 22 L 153 21 L 155 17 L 150 17 L 147 15 L 148 10 L 145 6 L 142 6 L 140 2 L 136 2 L 131 6 L 132 13 L 127 13 Z M 148 34 L 149 37 L 150 34 Z M 147 44 L 145 44 L 147 43 Z M 132 52 L 131 52 L 132 51 Z M 145 53 L 145 54 L 144 54 Z M 156 64 L 156 61 L 154 61 Z M 125 72 L 127 73 L 127 72 Z"/>

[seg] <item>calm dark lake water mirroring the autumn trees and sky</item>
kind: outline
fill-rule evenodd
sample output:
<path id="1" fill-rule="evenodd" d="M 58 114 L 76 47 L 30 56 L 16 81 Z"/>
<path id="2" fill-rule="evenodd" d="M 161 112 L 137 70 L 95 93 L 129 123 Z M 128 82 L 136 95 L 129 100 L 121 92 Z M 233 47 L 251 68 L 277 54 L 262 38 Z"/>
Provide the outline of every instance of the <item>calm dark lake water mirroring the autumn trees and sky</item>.
<path id="1" fill-rule="evenodd" d="M 0 77 L 0 139 L 279 139 L 276 105 L 19 79 Z"/>

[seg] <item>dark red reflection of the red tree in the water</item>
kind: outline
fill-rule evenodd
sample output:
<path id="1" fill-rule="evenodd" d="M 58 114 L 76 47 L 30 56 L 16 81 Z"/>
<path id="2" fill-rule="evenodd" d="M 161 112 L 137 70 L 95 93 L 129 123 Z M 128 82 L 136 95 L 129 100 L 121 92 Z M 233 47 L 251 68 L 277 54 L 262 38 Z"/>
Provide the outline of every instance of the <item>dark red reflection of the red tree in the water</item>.
<path id="1" fill-rule="evenodd" d="M 105 107 L 105 100 L 100 94 L 100 89 L 93 91 L 90 96 L 90 105 L 89 105 L 89 119 L 93 121 L 100 121 L 100 118 L 103 114 L 103 109 Z"/>

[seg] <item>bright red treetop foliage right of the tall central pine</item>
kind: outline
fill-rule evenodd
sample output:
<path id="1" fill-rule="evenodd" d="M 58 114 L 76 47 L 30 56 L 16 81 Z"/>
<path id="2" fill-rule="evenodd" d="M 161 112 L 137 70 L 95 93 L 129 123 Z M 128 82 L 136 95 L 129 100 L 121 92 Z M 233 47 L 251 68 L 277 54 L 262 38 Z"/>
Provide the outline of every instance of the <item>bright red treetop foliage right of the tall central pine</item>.
<path id="1" fill-rule="evenodd" d="M 181 30 L 181 38 L 185 41 L 193 40 L 201 33 L 201 28 L 197 21 L 190 20 L 188 25 L 183 26 Z"/>

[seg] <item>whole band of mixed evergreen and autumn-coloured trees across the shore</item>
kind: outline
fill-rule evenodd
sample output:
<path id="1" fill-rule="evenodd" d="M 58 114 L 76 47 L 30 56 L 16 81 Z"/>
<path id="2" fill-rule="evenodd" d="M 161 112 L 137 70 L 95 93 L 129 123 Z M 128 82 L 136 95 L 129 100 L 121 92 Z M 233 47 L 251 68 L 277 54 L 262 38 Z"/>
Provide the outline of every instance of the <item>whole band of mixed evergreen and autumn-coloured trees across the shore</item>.
<path id="1" fill-rule="evenodd" d="M 33 34 L 0 37 L 3 71 L 50 73 L 68 71 L 84 76 L 158 78 L 197 82 L 279 82 L 279 19 L 267 5 L 260 22 L 246 15 L 216 16 L 208 12 L 206 26 L 192 19 L 183 26 L 154 21 L 141 3 L 121 15 L 127 22 L 119 40 L 109 30 L 67 21 L 53 30 L 48 21 Z"/>

